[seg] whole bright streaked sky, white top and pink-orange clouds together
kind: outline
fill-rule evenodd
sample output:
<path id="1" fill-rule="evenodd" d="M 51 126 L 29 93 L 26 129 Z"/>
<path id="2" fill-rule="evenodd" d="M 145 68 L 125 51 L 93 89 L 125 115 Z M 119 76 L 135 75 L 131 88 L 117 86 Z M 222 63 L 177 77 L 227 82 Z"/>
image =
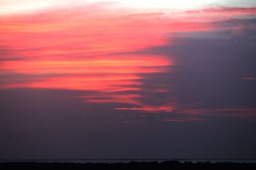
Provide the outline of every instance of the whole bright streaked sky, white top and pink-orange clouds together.
<path id="1" fill-rule="evenodd" d="M 207 3 L 191 2 L 195 8 L 187 9 L 182 1 L 159 1 L 156 9 L 160 12 L 135 1 L 129 4 L 143 8 L 125 8 L 120 5 L 125 3 L 122 1 L 2 2 L 1 8 L 12 10 L 1 13 L 0 17 L 3 77 L 0 87 L 92 91 L 95 94 L 77 97 L 99 106 L 100 103 L 128 104 L 115 110 L 188 110 L 177 101 L 179 94 L 160 99 L 158 103 L 148 102 L 146 96 L 168 94 L 175 83 L 154 81 L 150 83 L 154 88 L 147 89 L 144 80 L 153 75 L 175 74 L 173 67 L 180 61 L 170 53 L 143 54 L 140 50 L 177 46 L 177 38 L 182 35 L 197 38 L 210 35 L 207 38 L 211 39 L 216 36 L 211 37 L 211 32 L 243 34 L 249 26 L 238 19 L 246 20 L 256 13 L 253 7 L 207 8 Z M 166 5 L 173 8 L 165 9 Z M 179 32 L 178 37 L 175 32 Z M 154 101 L 154 97 L 149 101 Z"/>

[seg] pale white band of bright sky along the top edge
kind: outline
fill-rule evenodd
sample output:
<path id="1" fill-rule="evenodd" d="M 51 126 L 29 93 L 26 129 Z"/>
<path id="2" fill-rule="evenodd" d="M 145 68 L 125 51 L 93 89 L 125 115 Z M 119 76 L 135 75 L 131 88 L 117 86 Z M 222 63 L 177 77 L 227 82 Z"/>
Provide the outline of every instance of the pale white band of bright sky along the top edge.
<path id="1" fill-rule="evenodd" d="M 129 10 L 151 10 L 151 11 L 170 11 L 170 10 L 195 10 L 209 7 L 244 7 L 248 8 L 255 6 L 256 3 L 253 0 L 232 0 L 232 1 L 222 1 L 222 0 L 211 0 L 211 1 L 189 1 L 189 0 L 141 0 L 141 1 L 125 1 L 125 0 L 10 0 L 10 1 L 1 1 L 0 2 L 0 15 L 13 15 L 15 13 L 36 13 L 40 10 L 47 10 L 49 8 L 72 8 L 77 6 L 86 6 L 88 4 L 104 4 L 111 6 L 113 9 L 118 8 L 128 8 Z M 114 5 L 114 6 L 113 6 Z"/>

